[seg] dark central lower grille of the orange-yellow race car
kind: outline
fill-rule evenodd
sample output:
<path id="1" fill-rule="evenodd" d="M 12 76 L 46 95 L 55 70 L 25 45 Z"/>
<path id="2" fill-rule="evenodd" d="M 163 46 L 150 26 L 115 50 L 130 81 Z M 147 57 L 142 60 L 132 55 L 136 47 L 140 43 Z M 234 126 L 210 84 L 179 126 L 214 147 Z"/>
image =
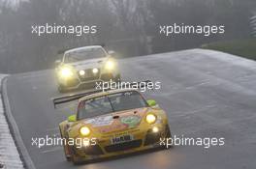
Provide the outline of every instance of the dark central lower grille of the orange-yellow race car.
<path id="1" fill-rule="evenodd" d="M 113 152 L 126 151 L 129 149 L 139 148 L 141 147 L 141 145 L 142 145 L 142 140 L 134 140 L 134 141 L 124 142 L 124 143 L 114 144 L 111 146 L 106 146 L 105 150 L 108 153 L 113 153 Z"/>

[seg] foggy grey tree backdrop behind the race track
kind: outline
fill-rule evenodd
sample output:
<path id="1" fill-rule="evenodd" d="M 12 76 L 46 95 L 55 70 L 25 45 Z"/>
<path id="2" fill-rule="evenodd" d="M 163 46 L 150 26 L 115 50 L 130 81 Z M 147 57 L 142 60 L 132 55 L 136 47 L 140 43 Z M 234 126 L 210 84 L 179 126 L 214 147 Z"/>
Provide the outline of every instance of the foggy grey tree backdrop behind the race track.
<path id="1" fill-rule="evenodd" d="M 53 68 L 59 50 L 104 42 L 119 57 L 251 37 L 255 0 L 0 0 L 0 72 Z M 97 25 L 81 37 L 31 34 L 31 25 Z M 159 25 L 225 25 L 224 35 L 164 37 Z"/>

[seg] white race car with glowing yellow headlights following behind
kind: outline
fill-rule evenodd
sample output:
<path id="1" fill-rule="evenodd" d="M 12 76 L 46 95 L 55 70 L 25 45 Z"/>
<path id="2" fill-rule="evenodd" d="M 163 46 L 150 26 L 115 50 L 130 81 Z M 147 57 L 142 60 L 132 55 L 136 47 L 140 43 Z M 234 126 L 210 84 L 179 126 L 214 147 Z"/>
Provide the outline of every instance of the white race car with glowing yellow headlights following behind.
<path id="1" fill-rule="evenodd" d="M 57 60 L 56 75 L 59 92 L 92 88 L 98 81 L 119 81 L 117 61 L 101 45 L 74 48 Z"/>

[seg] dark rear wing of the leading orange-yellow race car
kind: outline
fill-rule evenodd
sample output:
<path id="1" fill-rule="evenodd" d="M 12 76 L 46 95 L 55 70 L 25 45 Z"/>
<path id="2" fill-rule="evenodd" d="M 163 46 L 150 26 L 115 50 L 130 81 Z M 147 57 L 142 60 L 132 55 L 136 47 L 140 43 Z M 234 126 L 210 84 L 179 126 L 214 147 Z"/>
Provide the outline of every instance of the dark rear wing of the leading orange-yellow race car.
<path id="1" fill-rule="evenodd" d="M 145 81 L 140 81 L 140 82 L 133 82 L 130 84 L 130 86 L 137 85 L 138 86 L 137 89 L 139 89 L 139 87 L 140 88 L 147 87 L 148 83 L 151 83 L 151 81 L 145 80 Z M 125 83 L 124 84 L 120 83 L 119 86 L 116 86 L 116 89 L 125 89 L 125 87 L 126 87 Z M 107 92 L 107 91 L 111 91 L 111 90 L 114 90 L 114 89 L 108 88 L 108 89 L 105 89 L 104 91 Z M 54 108 L 56 108 L 56 105 L 58 105 L 58 104 L 74 101 L 74 100 L 81 99 L 83 97 L 86 97 L 86 96 L 89 96 L 92 94 L 96 94 L 96 93 L 101 93 L 101 92 L 103 92 L 102 89 L 95 89 L 95 90 L 91 90 L 91 91 L 87 91 L 87 92 L 82 92 L 79 94 L 72 94 L 72 95 L 68 95 L 68 96 L 64 96 L 64 97 L 54 98 L 54 99 L 52 99 L 52 101 L 53 101 Z"/>

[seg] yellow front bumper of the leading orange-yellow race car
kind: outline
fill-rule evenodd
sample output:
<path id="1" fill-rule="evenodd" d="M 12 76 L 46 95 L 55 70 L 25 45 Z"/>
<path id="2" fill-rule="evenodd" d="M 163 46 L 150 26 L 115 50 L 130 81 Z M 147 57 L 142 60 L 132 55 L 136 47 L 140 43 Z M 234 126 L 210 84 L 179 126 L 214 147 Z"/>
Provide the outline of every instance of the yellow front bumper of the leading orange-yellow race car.
<path id="1" fill-rule="evenodd" d="M 132 141 L 111 144 L 110 137 L 98 140 L 98 144 L 84 148 L 73 147 L 73 153 L 83 160 L 111 157 L 114 155 L 125 155 L 141 152 L 148 149 L 161 147 L 160 138 L 168 137 L 169 126 L 155 125 L 159 128 L 157 133 L 152 131 L 152 127 L 146 129 L 131 130 L 128 133 L 133 134 Z M 155 127 L 154 126 L 154 127 Z M 120 134 L 120 133 L 117 133 Z"/>

